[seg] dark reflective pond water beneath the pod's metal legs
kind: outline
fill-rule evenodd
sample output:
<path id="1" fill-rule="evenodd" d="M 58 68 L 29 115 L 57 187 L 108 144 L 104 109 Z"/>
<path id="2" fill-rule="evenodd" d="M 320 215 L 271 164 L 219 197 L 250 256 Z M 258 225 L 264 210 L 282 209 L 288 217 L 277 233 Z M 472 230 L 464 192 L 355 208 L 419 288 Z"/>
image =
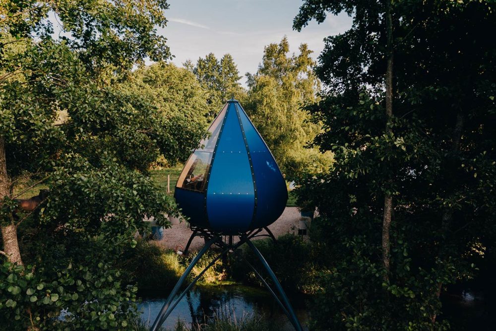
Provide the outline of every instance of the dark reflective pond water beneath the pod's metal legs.
<path id="1" fill-rule="evenodd" d="M 308 314 L 305 299 L 301 296 L 290 297 L 300 322 L 305 328 Z M 143 299 L 138 305 L 141 318 L 152 325 L 167 298 Z M 268 319 L 277 323 L 281 331 L 294 330 L 281 308 L 270 293 L 264 289 L 242 286 L 196 286 L 189 291 L 164 323 L 164 327 L 173 330 L 178 320 L 193 323 L 205 323 L 212 317 L 231 317 L 241 320 L 249 316 Z"/>

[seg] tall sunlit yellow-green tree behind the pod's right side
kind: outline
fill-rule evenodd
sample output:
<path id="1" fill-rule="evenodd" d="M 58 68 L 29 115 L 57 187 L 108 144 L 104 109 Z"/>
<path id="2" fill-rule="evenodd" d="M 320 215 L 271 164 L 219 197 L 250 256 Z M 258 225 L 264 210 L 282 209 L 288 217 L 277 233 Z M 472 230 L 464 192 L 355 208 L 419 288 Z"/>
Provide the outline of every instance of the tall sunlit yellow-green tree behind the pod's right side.
<path id="1" fill-rule="evenodd" d="M 257 72 L 247 74 L 245 107 L 282 172 L 293 180 L 305 169 L 319 172 L 328 168 L 332 157 L 318 148 L 306 148 L 320 131 L 320 125 L 311 123 L 308 111 L 302 108 L 306 102 L 316 101 L 320 88 L 312 72 L 312 52 L 302 44 L 299 55 L 288 53 L 286 37 L 265 47 Z"/>

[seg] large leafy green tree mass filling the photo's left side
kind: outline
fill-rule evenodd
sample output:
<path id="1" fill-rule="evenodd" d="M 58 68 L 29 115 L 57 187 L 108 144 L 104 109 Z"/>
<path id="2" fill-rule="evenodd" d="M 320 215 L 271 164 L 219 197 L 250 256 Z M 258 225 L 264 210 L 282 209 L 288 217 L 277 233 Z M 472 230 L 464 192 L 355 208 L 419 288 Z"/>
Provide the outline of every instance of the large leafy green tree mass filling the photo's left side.
<path id="1" fill-rule="evenodd" d="M 177 160 L 194 147 L 122 83 L 144 57 L 170 58 L 155 28 L 167 22 L 167 7 L 0 5 L 0 329 L 129 328 L 136 288 L 119 267 L 123 248 L 135 245 L 144 217 L 166 224 L 164 212 L 175 212 L 147 168 L 159 154 Z M 23 210 L 16 198 L 40 184 L 48 195 Z"/>

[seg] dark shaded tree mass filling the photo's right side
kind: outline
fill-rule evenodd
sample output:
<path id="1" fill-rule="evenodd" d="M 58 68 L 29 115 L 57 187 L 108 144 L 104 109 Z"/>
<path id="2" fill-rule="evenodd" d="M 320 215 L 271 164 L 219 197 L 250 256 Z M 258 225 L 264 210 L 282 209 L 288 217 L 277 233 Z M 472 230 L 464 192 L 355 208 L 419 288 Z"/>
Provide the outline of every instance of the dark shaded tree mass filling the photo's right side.
<path id="1" fill-rule="evenodd" d="M 319 302 L 333 313 L 316 324 L 446 326 L 440 292 L 494 240 L 496 48 L 476 31 L 494 29 L 495 13 L 488 1 L 306 0 L 294 28 L 343 11 L 353 25 L 325 39 L 316 74 L 327 89 L 310 107 L 335 163 L 300 197 L 310 192 L 336 253 Z M 387 245 L 377 223 L 389 215 Z"/>

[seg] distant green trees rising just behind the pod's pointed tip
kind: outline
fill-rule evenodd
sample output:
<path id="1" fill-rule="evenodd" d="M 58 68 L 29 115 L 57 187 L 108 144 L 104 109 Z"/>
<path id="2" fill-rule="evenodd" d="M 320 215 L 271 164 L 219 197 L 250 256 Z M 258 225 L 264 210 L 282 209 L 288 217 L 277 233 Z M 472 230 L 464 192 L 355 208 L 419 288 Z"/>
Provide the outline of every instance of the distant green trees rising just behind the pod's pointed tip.
<path id="1" fill-rule="evenodd" d="M 230 54 L 225 54 L 219 61 L 213 53 L 209 53 L 204 59 L 199 58 L 196 66 L 189 61 L 185 67 L 196 75 L 207 92 L 211 116 L 217 114 L 232 97 L 243 101 L 246 92 L 239 82 L 241 76 Z"/>

